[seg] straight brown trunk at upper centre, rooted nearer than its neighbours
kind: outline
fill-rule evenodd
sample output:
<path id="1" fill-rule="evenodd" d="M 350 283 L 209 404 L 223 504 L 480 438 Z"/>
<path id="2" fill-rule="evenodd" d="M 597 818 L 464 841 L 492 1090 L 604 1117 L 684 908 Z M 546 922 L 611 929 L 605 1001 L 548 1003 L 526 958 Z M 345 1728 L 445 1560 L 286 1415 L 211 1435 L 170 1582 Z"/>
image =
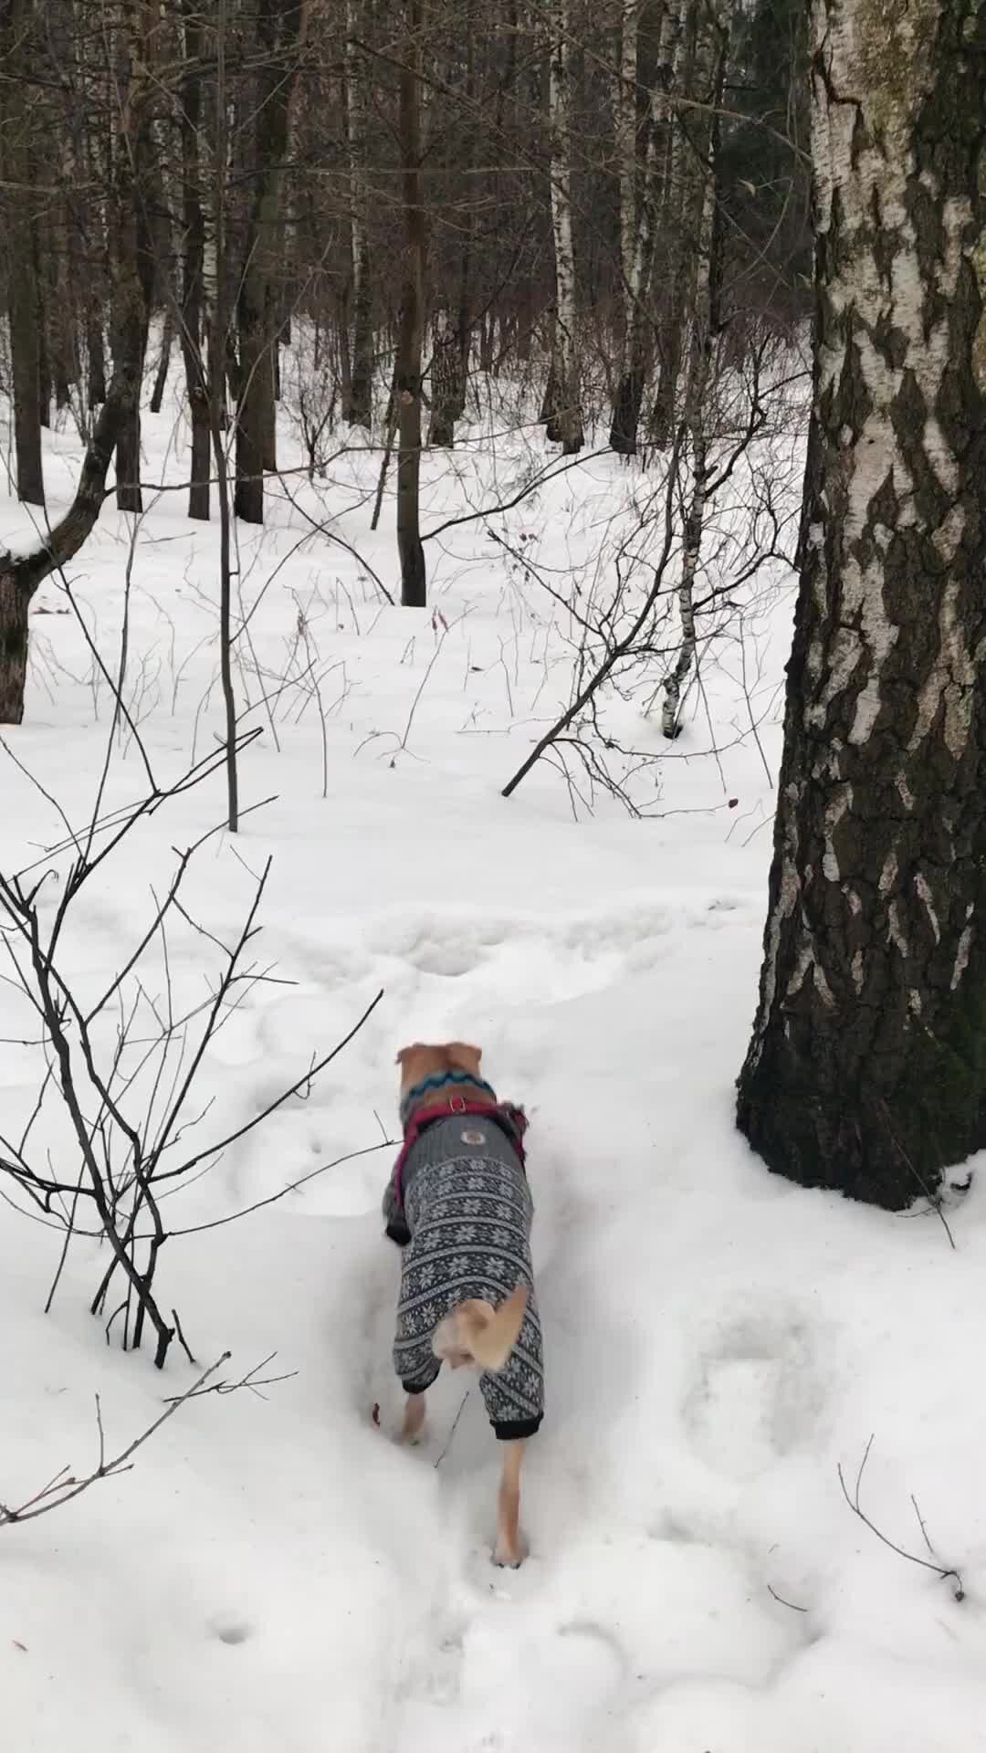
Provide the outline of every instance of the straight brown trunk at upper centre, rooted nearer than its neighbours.
<path id="1" fill-rule="evenodd" d="M 425 0 L 407 0 L 407 51 L 400 67 L 400 156 L 407 263 L 397 337 L 397 550 L 400 601 L 425 608 L 421 547 L 421 342 L 425 328 L 425 191 L 421 179 L 421 32 Z"/>

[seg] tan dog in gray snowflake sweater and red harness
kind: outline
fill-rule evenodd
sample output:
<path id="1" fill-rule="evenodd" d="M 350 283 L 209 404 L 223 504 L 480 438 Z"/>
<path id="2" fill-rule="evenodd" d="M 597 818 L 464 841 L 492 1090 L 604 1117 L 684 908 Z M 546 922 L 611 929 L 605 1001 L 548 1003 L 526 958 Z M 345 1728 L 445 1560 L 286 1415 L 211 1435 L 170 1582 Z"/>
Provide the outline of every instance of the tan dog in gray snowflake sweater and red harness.
<path id="1" fill-rule="evenodd" d="M 482 1078 L 465 1041 L 397 1055 L 404 1148 L 388 1182 L 386 1234 L 404 1248 L 393 1366 L 407 1394 L 402 1441 L 425 1427 L 442 1364 L 472 1369 L 504 1443 L 493 1562 L 516 1569 L 525 1443 L 544 1416 L 540 1320 L 523 1108 Z"/>

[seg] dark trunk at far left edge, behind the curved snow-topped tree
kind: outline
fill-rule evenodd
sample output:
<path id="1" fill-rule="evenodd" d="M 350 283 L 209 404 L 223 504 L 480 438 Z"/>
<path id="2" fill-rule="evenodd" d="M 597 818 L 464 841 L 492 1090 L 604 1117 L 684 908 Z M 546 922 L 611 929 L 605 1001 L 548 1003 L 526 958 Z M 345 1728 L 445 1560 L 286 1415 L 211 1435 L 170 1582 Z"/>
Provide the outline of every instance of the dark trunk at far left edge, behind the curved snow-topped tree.
<path id="1" fill-rule="evenodd" d="M 0 18 L 7 63 L 7 82 L 4 88 L 4 174 L 7 179 L 7 316 L 11 323 L 11 366 L 14 379 L 18 498 L 26 505 L 44 505 L 39 287 L 32 235 L 32 182 L 37 153 L 28 133 L 28 86 L 25 79 L 25 35 L 32 23 L 32 0 L 5 0 Z M 2 638 L 0 631 L 0 645 Z M 0 715 L 2 722 L 11 720 Z"/>

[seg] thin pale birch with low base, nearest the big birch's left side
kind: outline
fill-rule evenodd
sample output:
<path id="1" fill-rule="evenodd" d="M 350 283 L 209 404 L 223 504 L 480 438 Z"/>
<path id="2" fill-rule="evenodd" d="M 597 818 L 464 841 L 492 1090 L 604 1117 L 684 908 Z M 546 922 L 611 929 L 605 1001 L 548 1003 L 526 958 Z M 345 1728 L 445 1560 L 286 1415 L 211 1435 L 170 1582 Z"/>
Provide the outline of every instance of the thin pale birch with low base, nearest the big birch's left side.
<path id="1" fill-rule="evenodd" d="M 702 557 L 705 503 L 709 498 L 709 396 L 712 391 L 712 349 L 719 326 L 719 286 L 723 268 L 718 156 L 721 131 L 719 114 L 723 105 L 723 84 L 726 77 L 726 53 L 730 40 L 728 4 L 721 4 L 719 0 L 718 9 L 712 11 L 709 18 L 707 28 L 712 61 L 712 103 L 700 117 L 700 126 L 695 135 L 697 151 L 702 154 L 700 175 L 704 179 L 704 189 L 691 287 L 691 356 L 688 363 L 688 387 L 684 394 L 684 424 L 688 428 L 691 461 L 691 498 L 684 521 L 681 584 L 677 587 L 681 649 L 665 682 L 665 699 L 661 708 L 661 729 L 668 738 L 677 736 L 681 731 L 681 698 L 697 663 L 695 577 Z"/>

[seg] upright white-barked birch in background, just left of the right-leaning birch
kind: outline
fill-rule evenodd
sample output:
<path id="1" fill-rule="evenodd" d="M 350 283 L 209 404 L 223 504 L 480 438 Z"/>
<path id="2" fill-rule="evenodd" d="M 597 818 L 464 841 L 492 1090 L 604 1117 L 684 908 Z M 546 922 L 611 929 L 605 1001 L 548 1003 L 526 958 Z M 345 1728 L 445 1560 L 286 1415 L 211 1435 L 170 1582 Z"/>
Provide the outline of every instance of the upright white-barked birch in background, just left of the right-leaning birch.
<path id="1" fill-rule="evenodd" d="M 549 131 L 551 231 L 554 238 L 554 405 L 547 436 L 565 456 L 582 449 L 582 398 L 575 358 L 575 254 L 572 247 L 572 138 L 568 126 L 568 0 L 551 4 Z"/>

